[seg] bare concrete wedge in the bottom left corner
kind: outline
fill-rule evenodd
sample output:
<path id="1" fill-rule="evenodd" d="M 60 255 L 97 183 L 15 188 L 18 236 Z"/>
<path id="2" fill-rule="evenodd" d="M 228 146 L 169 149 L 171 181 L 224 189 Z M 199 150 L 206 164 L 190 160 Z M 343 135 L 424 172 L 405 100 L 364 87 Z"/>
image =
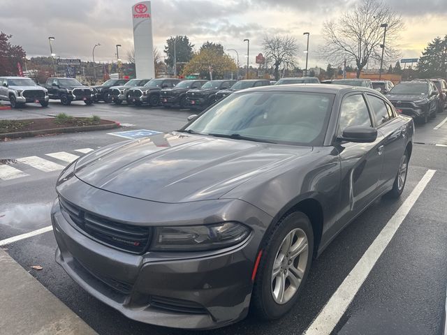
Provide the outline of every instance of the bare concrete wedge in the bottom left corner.
<path id="1" fill-rule="evenodd" d="M 0 334 L 97 335 L 1 248 L 0 269 Z"/>

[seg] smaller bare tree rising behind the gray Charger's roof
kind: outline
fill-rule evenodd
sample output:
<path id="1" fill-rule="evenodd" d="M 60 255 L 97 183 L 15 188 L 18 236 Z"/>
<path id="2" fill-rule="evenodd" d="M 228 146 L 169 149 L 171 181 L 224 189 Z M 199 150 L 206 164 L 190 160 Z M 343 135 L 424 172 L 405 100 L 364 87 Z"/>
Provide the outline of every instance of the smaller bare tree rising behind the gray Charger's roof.
<path id="1" fill-rule="evenodd" d="M 298 45 L 292 36 L 265 36 L 263 40 L 264 57 L 274 68 L 274 79 L 279 79 L 279 66 L 281 64 L 295 64 Z"/>

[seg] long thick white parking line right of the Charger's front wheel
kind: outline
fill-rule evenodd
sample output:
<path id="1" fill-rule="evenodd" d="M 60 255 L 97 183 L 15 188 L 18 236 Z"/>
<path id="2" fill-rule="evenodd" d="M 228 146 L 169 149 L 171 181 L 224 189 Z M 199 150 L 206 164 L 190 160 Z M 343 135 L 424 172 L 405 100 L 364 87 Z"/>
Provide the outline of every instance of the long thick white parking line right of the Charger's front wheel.
<path id="1" fill-rule="evenodd" d="M 362 258 L 360 258 L 356 266 L 349 272 L 343 283 L 339 285 L 339 288 L 337 288 L 328 303 L 325 304 L 314 322 L 307 328 L 305 335 L 329 335 L 335 326 L 337 326 L 337 323 L 344 315 L 344 312 L 346 312 L 346 309 L 356 296 L 356 293 L 372 270 L 372 267 L 379 260 L 379 257 L 390 243 L 395 232 L 404 221 L 404 218 L 409 214 L 410 209 L 424 191 L 425 186 L 432 179 L 434 172 L 436 170 L 428 170 L 425 172 L 424 177 L 420 179 L 418 185 L 411 191 L 409 197 L 397 209 L 393 217 L 390 218 L 390 221 L 388 221 L 380 234 L 362 255 Z"/>

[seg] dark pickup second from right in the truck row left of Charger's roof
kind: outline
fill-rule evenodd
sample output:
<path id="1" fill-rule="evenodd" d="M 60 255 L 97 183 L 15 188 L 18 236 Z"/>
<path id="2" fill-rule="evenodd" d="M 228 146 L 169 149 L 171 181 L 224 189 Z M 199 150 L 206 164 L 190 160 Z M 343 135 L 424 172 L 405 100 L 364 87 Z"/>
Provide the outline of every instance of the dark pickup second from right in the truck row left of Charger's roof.
<path id="1" fill-rule="evenodd" d="M 229 89 L 235 82 L 236 80 L 210 80 L 200 89 L 190 89 L 186 92 L 187 107 L 205 110 L 214 103 L 218 91 Z"/>

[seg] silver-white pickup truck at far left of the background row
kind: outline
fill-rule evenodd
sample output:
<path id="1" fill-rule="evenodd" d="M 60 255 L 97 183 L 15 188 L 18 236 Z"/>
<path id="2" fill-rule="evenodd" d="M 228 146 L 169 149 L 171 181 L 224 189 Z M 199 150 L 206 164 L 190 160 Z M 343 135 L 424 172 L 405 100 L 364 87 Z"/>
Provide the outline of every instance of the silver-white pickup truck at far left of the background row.
<path id="1" fill-rule="evenodd" d="M 27 77 L 0 77 L 0 101 L 9 101 L 17 108 L 24 103 L 48 105 L 48 91 Z"/>

